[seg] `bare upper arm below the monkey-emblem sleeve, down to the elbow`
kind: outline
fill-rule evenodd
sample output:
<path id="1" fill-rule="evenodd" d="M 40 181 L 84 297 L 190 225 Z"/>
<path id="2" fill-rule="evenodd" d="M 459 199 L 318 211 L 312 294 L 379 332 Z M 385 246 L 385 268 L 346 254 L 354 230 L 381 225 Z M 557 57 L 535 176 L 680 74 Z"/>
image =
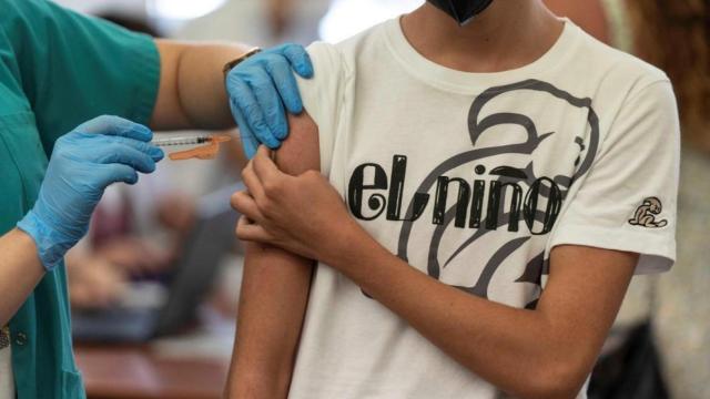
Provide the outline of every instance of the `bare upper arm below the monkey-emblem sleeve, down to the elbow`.
<path id="1" fill-rule="evenodd" d="M 578 245 L 557 246 L 550 253 L 549 278 L 536 310 L 577 361 L 572 369 L 579 386 L 599 356 L 638 257 Z"/>

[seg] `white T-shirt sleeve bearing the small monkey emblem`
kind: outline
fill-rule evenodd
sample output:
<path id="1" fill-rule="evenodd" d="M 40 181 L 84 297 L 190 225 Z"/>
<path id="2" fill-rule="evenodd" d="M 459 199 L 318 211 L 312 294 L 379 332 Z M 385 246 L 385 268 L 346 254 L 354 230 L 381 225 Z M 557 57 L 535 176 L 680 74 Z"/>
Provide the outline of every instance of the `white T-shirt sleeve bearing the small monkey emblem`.
<path id="1" fill-rule="evenodd" d="M 635 90 L 602 135 L 591 167 L 570 187 L 549 247 L 637 253 L 637 274 L 668 270 L 676 259 L 679 160 L 670 83 Z"/>

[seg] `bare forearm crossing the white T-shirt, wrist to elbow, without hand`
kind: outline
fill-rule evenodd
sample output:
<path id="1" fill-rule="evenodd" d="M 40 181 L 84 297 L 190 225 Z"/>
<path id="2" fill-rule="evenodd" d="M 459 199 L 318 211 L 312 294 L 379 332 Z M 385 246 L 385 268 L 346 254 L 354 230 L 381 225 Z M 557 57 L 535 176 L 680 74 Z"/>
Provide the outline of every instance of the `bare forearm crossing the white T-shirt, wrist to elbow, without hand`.
<path id="1" fill-rule="evenodd" d="M 513 308 L 442 284 L 369 237 L 341 249 L 347 253 L 331 260 L 336 268 L 448 356 L 509 393 L 574 397 L 590 371 L 600 338 L 580 336 L 544 310 Z M 580 337 L 588 341 L 579 342 Z"/>

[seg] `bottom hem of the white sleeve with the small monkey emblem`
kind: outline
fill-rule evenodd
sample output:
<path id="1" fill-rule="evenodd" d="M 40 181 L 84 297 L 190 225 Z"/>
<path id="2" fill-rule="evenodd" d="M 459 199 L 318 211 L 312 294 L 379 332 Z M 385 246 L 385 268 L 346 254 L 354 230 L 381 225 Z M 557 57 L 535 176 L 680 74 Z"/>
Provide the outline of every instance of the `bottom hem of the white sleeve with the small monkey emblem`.
<path id="1" fill-rule="evenodd" d="M 558 245 L 582 245 L 596 248 L 637 253 L 640 255 L 633 274 L 668 272 L 676 263 L 676 241 L 622 228 L 567 228 L 555 234 L 550 249 Z"/>

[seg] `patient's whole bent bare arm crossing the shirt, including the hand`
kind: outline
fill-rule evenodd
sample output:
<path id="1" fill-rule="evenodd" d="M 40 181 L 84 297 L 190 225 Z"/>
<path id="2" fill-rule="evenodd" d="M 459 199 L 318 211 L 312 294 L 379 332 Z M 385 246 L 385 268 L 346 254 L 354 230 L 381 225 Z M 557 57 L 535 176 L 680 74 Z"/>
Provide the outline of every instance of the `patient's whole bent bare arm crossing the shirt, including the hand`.
<path id="1" fill-rule="evenodd" d="M 537 307 L 514 308 L 443 284 L 393 255 L 351 217 L 317 172 L 284 174 L 260 147 L 244 182 L 248 193 L 235 194 L 232 203 L 253 223 L 240 221 L 240 238 L 334 267 L 471 372 L 521 398 L 579 392 L 638 259 L 555 247 Z"/>

